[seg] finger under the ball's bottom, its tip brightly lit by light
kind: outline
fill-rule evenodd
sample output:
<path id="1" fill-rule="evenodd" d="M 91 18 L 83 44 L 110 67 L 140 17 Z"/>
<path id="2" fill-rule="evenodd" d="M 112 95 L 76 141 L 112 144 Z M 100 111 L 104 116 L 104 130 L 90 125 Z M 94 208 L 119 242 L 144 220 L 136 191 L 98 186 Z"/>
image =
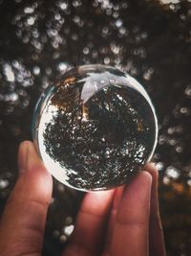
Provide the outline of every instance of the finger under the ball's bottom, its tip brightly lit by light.
<path id="1" fill-rule="evenodd" d="M 98 255 L 114 190 L 87 193 L 77 215 L 74 235 L 64 255 Z"/>

